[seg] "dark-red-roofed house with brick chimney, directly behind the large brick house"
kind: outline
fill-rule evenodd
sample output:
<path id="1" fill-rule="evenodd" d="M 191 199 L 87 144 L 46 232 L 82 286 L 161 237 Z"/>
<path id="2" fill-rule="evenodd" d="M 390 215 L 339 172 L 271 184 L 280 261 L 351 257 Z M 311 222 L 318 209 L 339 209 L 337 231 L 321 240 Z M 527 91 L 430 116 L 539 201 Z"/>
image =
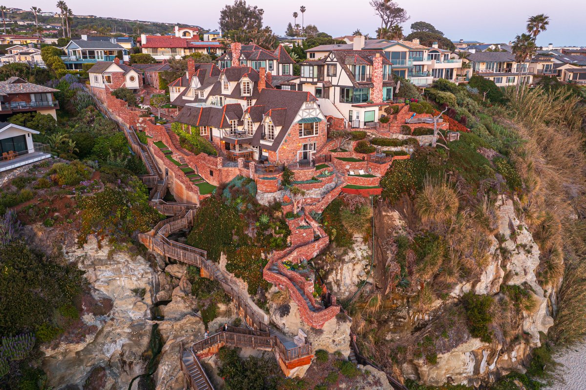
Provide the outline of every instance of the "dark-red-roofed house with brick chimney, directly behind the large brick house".
<path id="1" fill-rule="evenodd" d="M 220 69 L 233 66 L 251 67 L 256 71 L 265 68 L 274 76 L 293 75 L 295 61 L 282 45 L 270 51 L 255 44 L 232 43 L 230 50 L 218 59 Z"/>

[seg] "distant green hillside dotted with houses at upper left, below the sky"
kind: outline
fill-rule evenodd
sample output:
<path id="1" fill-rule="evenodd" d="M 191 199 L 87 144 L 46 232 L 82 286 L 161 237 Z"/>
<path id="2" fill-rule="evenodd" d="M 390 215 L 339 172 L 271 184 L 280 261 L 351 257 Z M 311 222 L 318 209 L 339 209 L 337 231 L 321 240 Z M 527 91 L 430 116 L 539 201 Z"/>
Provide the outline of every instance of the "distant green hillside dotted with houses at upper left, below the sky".
<path id="1" fill-rule="evenodd" d="M 14 20 L 35 20 L 35 15 L 32 12 L 23 13 L 9 13 L 8 18 Z M 61 25 L 61 19 L 52 16 L 38 16 L 40 24 L 50 25 Z M 114 18 L 83 18 L 79 16 L 73 16 L 73 22 L 71 24 L 71 33 L 79 35 L 80 33 L 88 31 L 97 31 L 100 33 L 117 32 L 123 34 L 166 34 L 172 33 L 173 27 L 177 26 L 188 26 L 182 23 L 160 23 L 160 22 L 148 22 L 139 20 L 121 20 Z M 200 27 L 201 28 L 201 27 Z"/>

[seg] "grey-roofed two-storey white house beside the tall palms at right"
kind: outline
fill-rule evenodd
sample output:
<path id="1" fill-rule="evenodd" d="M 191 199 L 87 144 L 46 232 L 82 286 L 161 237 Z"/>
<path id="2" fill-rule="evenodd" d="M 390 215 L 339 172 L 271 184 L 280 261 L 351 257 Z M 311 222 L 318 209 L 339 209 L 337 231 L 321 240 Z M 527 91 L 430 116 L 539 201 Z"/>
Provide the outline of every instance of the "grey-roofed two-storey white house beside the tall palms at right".
<path id="1" fill-rule="evenodd" d="M 521 78 L 523 84 L 532 84 L 536 74 L 535 64 L 517 63 L 515 55 L 508 51 L 470 53 L 465 59 L 471 63 L 471 68 L 466 71 L 467 77 L 472 74 L 481 75 L 492 80 L 498 87 L 516 85 Z"/>

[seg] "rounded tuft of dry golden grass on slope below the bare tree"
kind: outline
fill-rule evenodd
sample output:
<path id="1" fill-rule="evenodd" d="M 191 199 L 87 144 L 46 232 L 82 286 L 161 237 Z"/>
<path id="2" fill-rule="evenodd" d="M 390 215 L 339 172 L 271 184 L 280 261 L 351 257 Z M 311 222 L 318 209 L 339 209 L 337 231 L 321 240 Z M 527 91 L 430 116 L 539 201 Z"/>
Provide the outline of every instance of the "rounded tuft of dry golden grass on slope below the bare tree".
<path id="1" fill-rule="evenodd" d="M 429 177 L 415 202 L 415 210 L 424 223 L 444 222 L 456 215 L 458 206 L 454 189 L 445 180 Z"/>

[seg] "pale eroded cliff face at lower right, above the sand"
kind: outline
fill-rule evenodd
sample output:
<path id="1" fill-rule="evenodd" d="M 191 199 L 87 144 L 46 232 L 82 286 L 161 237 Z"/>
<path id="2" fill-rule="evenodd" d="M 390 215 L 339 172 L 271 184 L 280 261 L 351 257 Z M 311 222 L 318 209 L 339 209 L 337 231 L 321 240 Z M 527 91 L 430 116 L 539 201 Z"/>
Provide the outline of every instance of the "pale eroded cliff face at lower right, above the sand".
<path id="1" fill-rule="evenodd" d="M 553 318 L 547 310 L 547 296 L 536 278 L 539 264 L 537 244 L 527 226 L 516 217 L 511 199 L 500 196 L 496 211 L 499 226 L 496 236 L 500 242 L 492 239 L 488 265 L 475 281 L 457 285 L 451 296 L 459 297 L 473 291 L 478 295 L 493 295 L 498 302 L 499 296 L 502 296 L 499 294 L 502 285 L 529 287 L 536 305 L 530 311 L 523 310 L 515 319 L 519 326 L 513 331 L 519 336 L 513 339 L 496 334 L 492 343 L 464 337 L 451 349 L 438 353 L 436 364 L 429 364 L 423 358 L 403 364 L 401 369 L 404 377 L 430 385 L 441 385 L 448 380 L 459 384 L 479 385 L 512 370 L 524 371 L 522 361 L 532 348 L 541 345 L 540 332 L 547 333 L 553 325 Z M 442 315 L 445 313 L 441 310 L 429 313 L 430 320 Z M 427 322 L 415 325 L 425 327 Z M 467 332 L 465 329 L 462 331 Z"/>

